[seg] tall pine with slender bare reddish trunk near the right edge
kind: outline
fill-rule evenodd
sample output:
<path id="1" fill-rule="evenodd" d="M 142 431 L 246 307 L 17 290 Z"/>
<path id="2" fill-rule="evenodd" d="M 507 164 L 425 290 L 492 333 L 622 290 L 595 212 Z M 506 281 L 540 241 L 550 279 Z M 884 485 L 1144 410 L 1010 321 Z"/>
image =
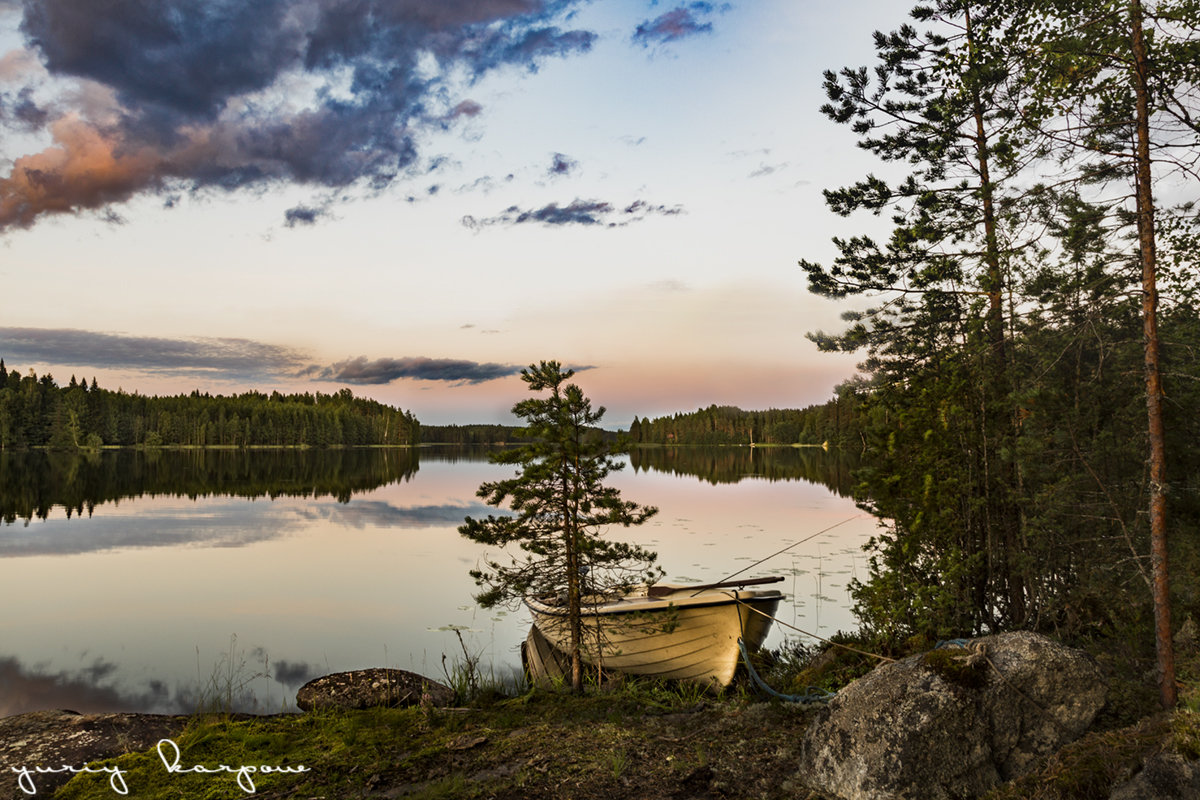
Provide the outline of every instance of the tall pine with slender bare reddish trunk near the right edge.
<path id="1" fill-rule="evenodd" d="M 1033 58 L 1038 91 L 1022 112 L 1079 182 L 1124 184 L 1111 219 L 1132 228 L 1141 276 L 1148 519 L 1162 702 L 1175 704 L 1168 570 L 1168 476 L 1160 367 L 1163 231 L 1195 225 L 1190 205 L 1164 221 L 1162 181 L 1200 178 L 1200 7 L 1194 0 L 1008 0 L 1014 42 Z M 1169 212 L 1170 215 L 1170 212 Z M 1194 230 L 1194 228 L 1193 228 Z M 1194 275 L 1195 239 L 1186 239 Z"/>

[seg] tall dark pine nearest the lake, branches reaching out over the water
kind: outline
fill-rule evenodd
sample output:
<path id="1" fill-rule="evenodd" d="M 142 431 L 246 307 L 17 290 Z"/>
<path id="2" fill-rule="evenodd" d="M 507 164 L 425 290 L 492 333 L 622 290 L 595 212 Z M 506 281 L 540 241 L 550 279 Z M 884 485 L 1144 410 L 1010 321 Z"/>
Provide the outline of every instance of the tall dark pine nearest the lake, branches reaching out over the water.
<path id="1" fill-rule="evenodd" d="M 824 193 L 844 216 L 890 212 L 884 243 L 835 239 L 832 265 L 800 261 L 817 294 L 884 299 L 847 312 L 847 331 L 812 338 L 822 349 L 866 350 L 862 366 L 882 411 L 871 419 L 886 438 L 876 447 L 894 456 L 883 461 L 895 469 L 875 465 L 869 501 L 896 522 L 892 546 L 928 549 L 917 583 L 944 599 L 924 603 L 940 630 L 1022 626 L 1032 615 L 1012 459 L 1006 315 L 1014 263 L 1027 246 L 1020 224 L 1031 206 L 1016 185 L 1030 157 L 1018 113 L 1026 86 L 991 5 L 918 6 L 912 16 L 929 30 L 907 24 L 876 32 L 874 72 L 826 73 L 829 103 L 821 110 L 850 125 L 860 148 L 910 172 L 899 181 L 869 175 Z M 910 479 L 917 482 L 901 489 Z M 964 494 L 971 503 L 950 513 Z M 938 608 L 948 615 L 936 621 Z"/>

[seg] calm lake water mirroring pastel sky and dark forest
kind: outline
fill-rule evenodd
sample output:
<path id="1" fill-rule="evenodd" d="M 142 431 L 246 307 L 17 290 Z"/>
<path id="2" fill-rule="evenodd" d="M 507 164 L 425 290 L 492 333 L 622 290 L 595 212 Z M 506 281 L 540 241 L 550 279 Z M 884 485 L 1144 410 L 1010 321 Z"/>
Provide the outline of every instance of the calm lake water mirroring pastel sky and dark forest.
<path id="1" fill-rule="evenodd" d="M 610 482 L 659 507 L 616 529 L 667 581 L 782 575 L 779 619 L 853 627 L 875 522 L 845 497 L 848 464 L 816 449 L 659 449 Z M 396 667 L 444 680 L 470 654 L 520 666 L 523 608 L 484 610 L 460 536 L 512 467 L 485 450 L 0 453 L 0 716 L 294 710 L 307 680 Z M 776 625 L 767 646 L 802 637 Z"/>

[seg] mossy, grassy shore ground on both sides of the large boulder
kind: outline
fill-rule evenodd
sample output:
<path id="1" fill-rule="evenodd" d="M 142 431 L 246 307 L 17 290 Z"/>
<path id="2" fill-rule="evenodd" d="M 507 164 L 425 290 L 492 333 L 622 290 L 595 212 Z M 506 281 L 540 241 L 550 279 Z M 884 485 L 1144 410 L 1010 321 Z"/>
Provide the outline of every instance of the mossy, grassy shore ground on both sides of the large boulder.
<path id="1" fill-rule="evenodd" d="M 1156 714 L 1145 670 L 1093 656 L 1109 676 L 1093 732 L 986 800 L 1103 799 L 1158 753 L 1200 759 L 1200 661 L 1182 662 L 1180 708 Z M 874 663 L 848 650 L 793 648 L 762 667 L 768 682 L 796 691 L 839 688 Z M 78 775 L 54 796 L 110 796 L 112 771 L 120 770 L 128 796 L 154 800 L 248 796 L 248 781 L 257 798 L 294 800 L 822 799 L 798 772 L 811 708 L 763 702 L 744 685 L 712 697 L 686 685 L 624 679 L 571 694 L 505 687 L 472 663 L 452 670 L 450 682 L 460 708 L 197 714 L 173 745 L 162 745 L 180 771 L 169 772 L 149 748 L 92 763 L 108 771 Z M 191 772 L 197 765 L 211 771 Z M 239 776 L 244 766 L 264 765 L 292 771 Z"/>

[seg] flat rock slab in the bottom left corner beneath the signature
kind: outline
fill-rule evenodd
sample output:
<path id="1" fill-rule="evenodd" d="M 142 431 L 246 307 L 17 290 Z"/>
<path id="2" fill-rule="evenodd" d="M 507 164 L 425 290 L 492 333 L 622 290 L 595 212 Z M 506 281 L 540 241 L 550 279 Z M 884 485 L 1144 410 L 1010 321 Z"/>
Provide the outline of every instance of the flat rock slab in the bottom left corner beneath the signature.
<path id="1" fill-rule="evenodd" d="M 37 796 L 48 798 L 71 780 L 72 774 L 46 772 L 35 768 L 82 769 L 92 762 L 154 747 L 187 724 L 187 717 L 157 714 L 77 714 L 30 711 L 0 718 L 0 798 L 24 798 L 18 781 L 29 770 Z M 114 795 L 116 796 L 116 795 Z"/>

